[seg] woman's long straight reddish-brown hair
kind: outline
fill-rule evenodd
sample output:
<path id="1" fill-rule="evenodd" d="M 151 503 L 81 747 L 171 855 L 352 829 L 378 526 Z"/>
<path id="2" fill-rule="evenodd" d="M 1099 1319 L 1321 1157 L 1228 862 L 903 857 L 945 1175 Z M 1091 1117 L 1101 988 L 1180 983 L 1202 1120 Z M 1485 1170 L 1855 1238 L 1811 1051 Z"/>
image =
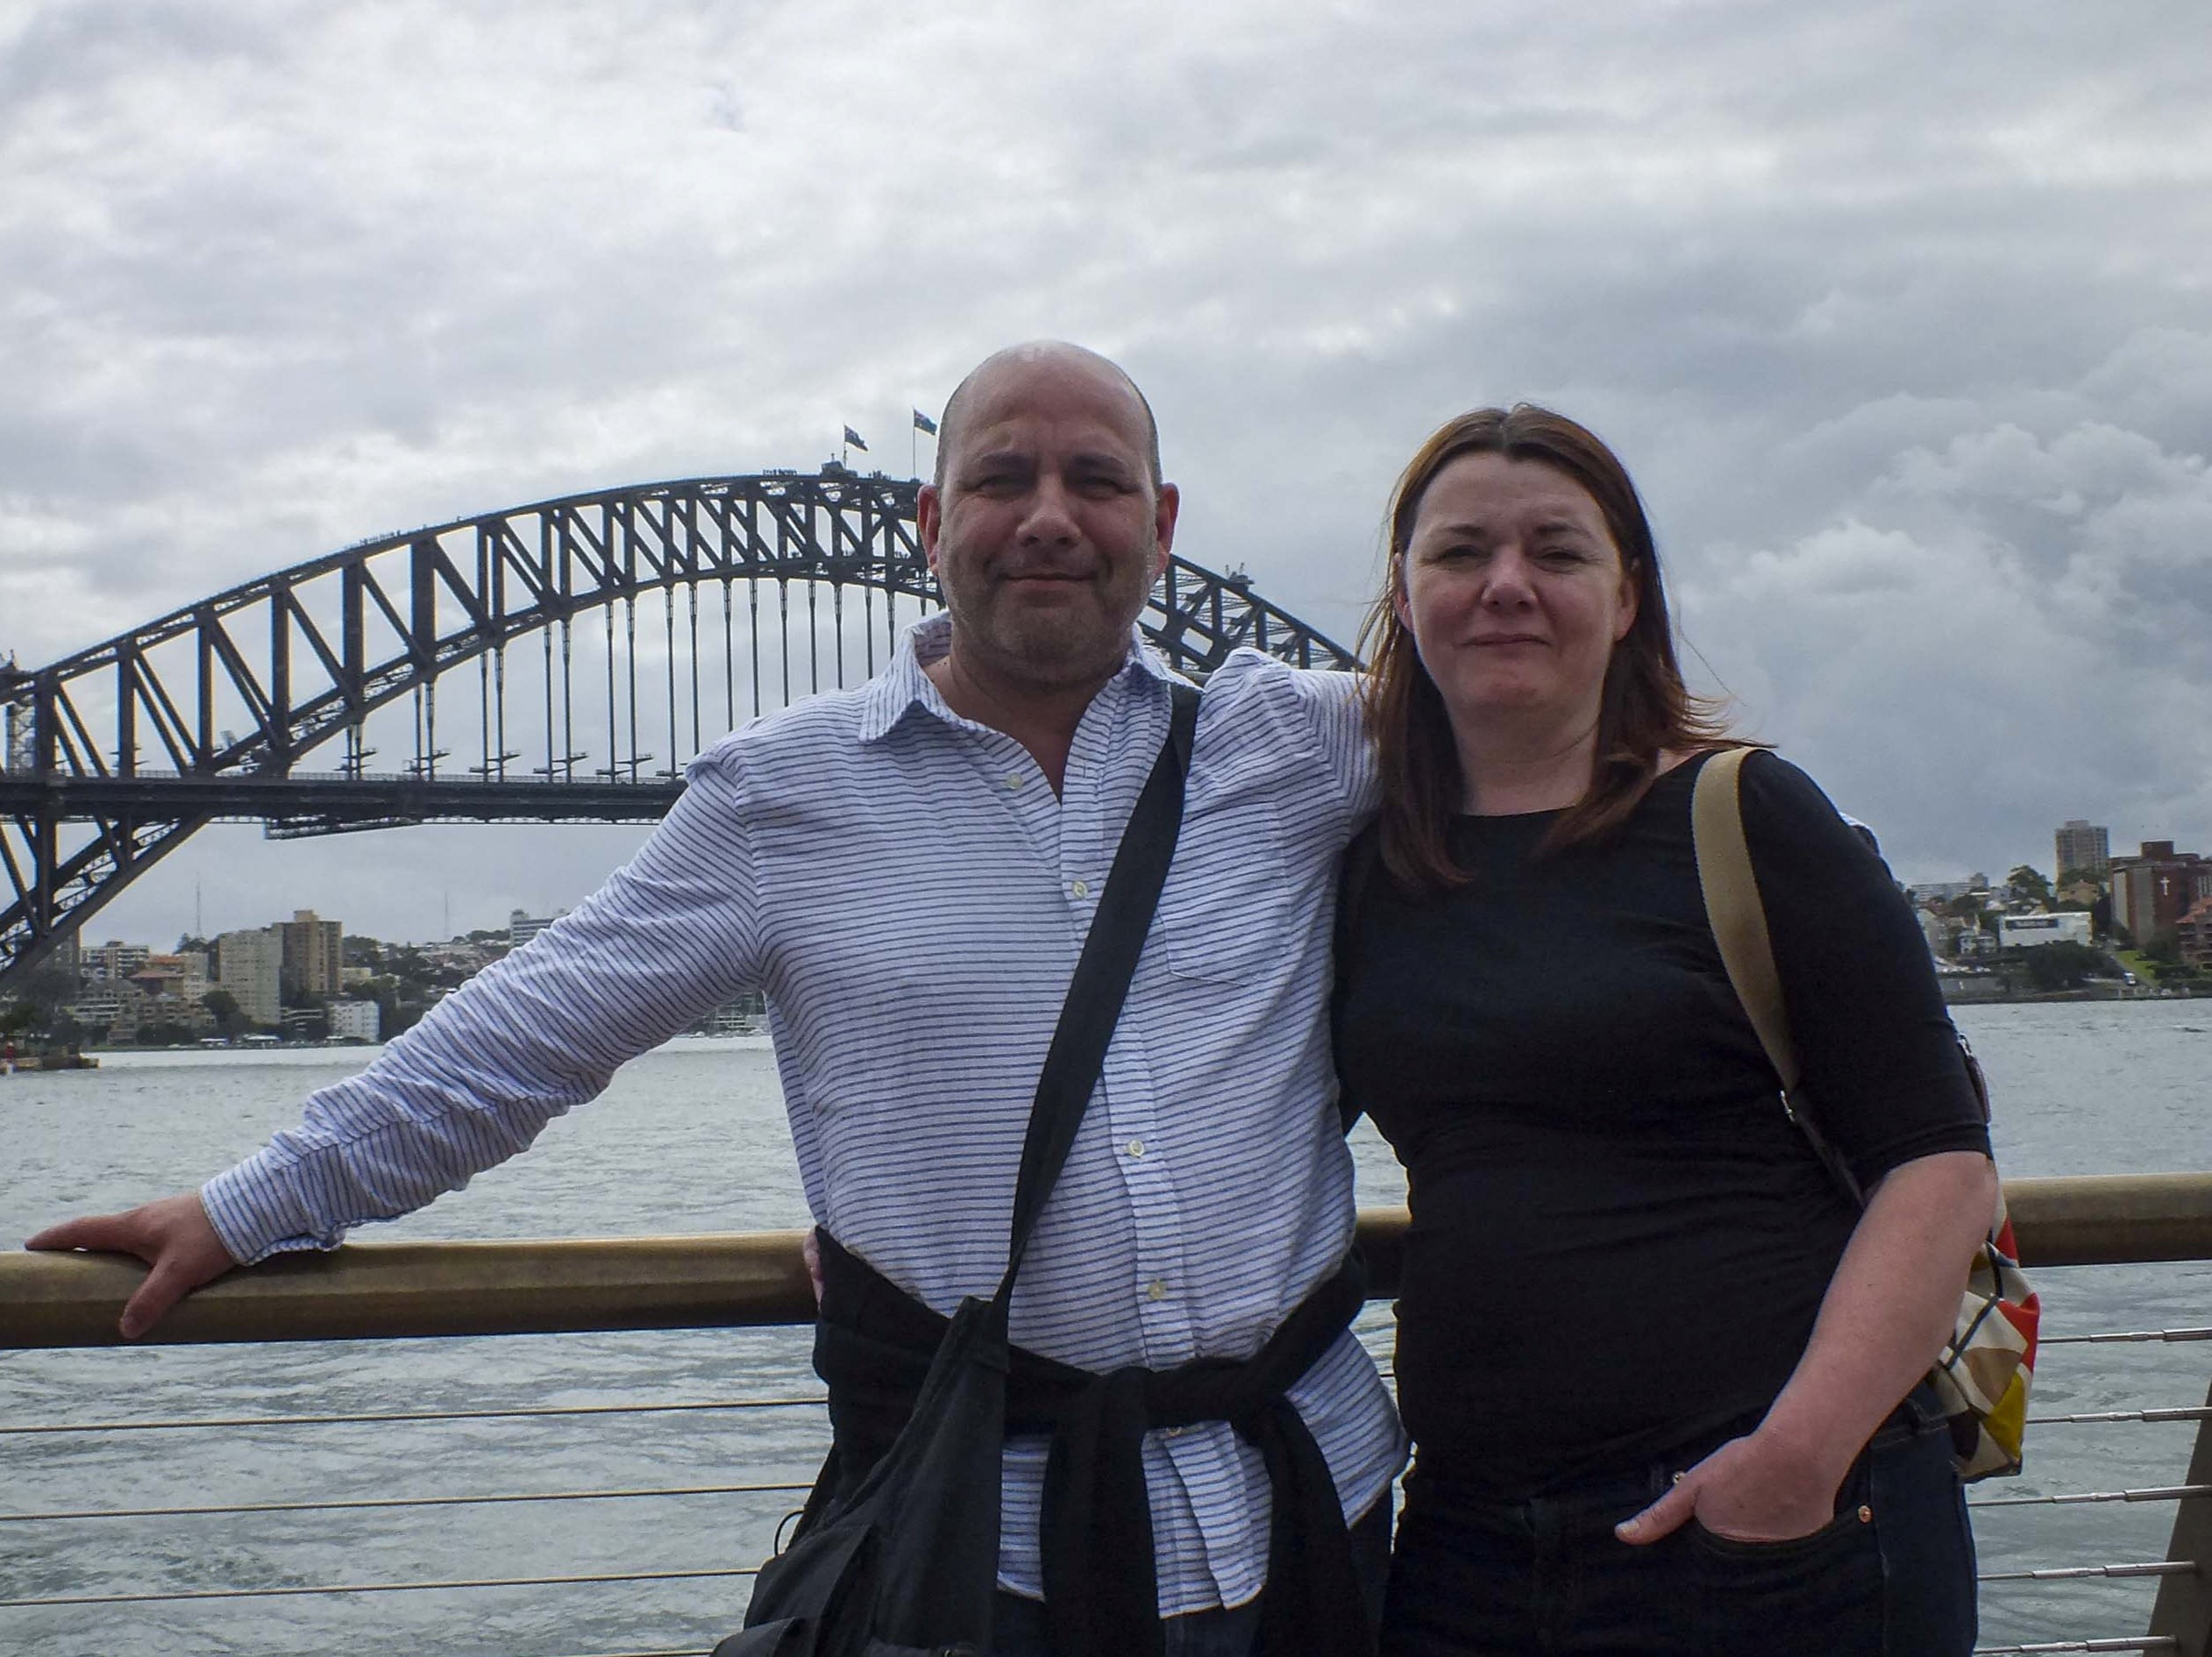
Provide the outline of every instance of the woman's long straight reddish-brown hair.
<path id="1" fill-rule="evenodd" d="M 1413 648 L 1411 628 L 1398 619 L 1396 597 L 1405 588 L 1405 557 L 1422 496 L 1436 473 L 1469 454 L 1535 460 L 1582 484 L 1606 515 L 1637 593 L 1637 617 L 1606 666 L 1590 790 L 1553 825 L 1546 850 L 1604 838 L 1644 799 L 1663 750 L 1710 748 L 1725 734 L 1719 710 L 1681 681 L 1659 551 L 1637 487 L 1613 449 L 1564 414 L 1531 403 L 1447 420 L 1420 445 L 1391 491 L 1389 575 L 1360 628 L 1369 657 L 1367 723 L 1383 777 L 1383 865 L 1416 892 L 1444 892 L 1467 880 L 1447 841 L 1464 799 L 1464 779 L 1444 699 Z"/>

